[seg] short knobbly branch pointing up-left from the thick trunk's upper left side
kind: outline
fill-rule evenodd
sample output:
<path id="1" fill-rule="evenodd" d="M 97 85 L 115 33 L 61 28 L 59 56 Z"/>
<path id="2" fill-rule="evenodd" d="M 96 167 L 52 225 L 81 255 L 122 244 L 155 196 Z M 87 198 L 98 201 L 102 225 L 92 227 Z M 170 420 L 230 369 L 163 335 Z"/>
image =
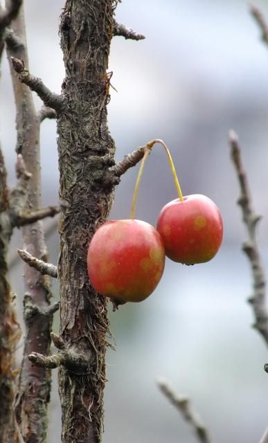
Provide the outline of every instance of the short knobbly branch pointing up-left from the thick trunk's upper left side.
<path id="1" fill-rule="evenodd" d="M 23 60 L 11 57 L 11 62 L 13 69 L 19 74 L 19 81 L 21 83 L 26 84 L 32 91 L 35 91 L 47 107 L 51 107 L 57 112 L 62 111 L 64 107 L 64 98 L 62 96 L 51 92 L 40 78 L 31 75 L 25 69 Z"/>

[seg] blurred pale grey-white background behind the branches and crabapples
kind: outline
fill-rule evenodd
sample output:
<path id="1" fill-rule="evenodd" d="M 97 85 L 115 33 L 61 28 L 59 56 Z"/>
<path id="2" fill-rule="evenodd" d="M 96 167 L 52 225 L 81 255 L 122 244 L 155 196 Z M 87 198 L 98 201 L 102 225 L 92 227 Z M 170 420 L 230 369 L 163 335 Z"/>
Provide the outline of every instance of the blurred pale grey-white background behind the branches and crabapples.
<path id="1" fill-rule="evenodd" d="M 58 24 L 64 1 L 24 4 L 30 71 L 60 93 L 64 66 Z M 268 1 L 258 0 L 258 6 L 268 18 Z M 107 352 L 103 443 L 197 441 L 159 392 L 159 377 L 190 397 L 213 442 L 258 442 L 268 426 L 268 375 L 262 369 L 268 355 L 252 328 L 247 304 L 251 269 L 241 251 L 246 233 L 236 205 L 239 189 L 228 132 L 232 128 L 240 137 L 254 207 L 264 216 L 258 237 L 267 269 L 268 47 L 244 0 L 125 0 L 116 17 L 146 36 L 141 42 L 115 37 L 111 44 L 109 70 L 118 93 L 110 89 L 108 111 L 116 159 L 152 138 L 163 138 L 184 195 L 211 197 L 222 210 L 225 233 L 214 260 L 196 266 L 167 260 L 159 287 L 148 300 L 111 312 L 116 352 Z M 1 69 L 1 144 L 12 186 L 15 107 L 4 58 Z M 35 103 L 41 106 L 36 96 Z M 58 198 L 56 136 L 55 121 L 44 121 L 44 206 Z M 137 172 L 129 170 L 116 189 L 112 219 L 129 217 Z M 155 224 L 161 208 L 176 197 L 165 153 L 155 147 L 145 166 L 136 217 Z M 57 233 L 46 237 L 56 263 Z M 22 267 L 14 257 L 20 245 L 17 233 L 10 278 L 19 311 Z M 60 441 L 55 370 L 53 376 L 50 443 Z"/>

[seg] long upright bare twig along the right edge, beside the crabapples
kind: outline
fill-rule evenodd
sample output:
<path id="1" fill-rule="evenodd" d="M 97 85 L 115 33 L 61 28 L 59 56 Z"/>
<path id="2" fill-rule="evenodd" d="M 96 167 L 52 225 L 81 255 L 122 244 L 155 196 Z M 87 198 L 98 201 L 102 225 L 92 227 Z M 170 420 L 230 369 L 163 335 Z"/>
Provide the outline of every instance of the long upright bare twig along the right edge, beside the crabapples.
<path id="1" fill-rule="evenodd" d="M 268 313 L 266 307 L 266 278 L 265 271 L 262 267 L 260 258 L 260 251 L 258 249 L 256 239 L 256 226 L 260 220 L 260 216 L 256 215 L 252 208 L 251 197 L 249 192 L 249 184 L 247 175 L 244 172 L 241 158 L 240 145 L 238 143 L 238 136 L 231 131 L 229 134 L 229 143 L 231 146 L 231 159 L 238 174 L 238 181 L 240 184 L 240 197 L 238 204 L 242 209 L 243 221 L 247 228 L 248 239 L 244 242 L 242 248 L 246 253 L 251 264 L 253 275 L 253 294 L 249 298 L 249 302 L 253 307 L 255 316 L 254 327 L 260 332 L 268 345 Z"/>

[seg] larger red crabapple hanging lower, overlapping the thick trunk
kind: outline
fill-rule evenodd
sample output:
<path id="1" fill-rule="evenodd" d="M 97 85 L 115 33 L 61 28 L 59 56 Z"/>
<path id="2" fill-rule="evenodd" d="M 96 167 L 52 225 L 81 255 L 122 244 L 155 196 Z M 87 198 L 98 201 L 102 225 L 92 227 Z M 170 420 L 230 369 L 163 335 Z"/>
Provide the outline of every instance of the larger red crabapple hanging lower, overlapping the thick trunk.
<path id="1" fill-rule="evenodd" d="M 157 287 L 165 258 L 163 240 L 153 226 L 141 220 L 114 220 L 93 235 L 87 269 L 102 296 L 141 302 Z"/>

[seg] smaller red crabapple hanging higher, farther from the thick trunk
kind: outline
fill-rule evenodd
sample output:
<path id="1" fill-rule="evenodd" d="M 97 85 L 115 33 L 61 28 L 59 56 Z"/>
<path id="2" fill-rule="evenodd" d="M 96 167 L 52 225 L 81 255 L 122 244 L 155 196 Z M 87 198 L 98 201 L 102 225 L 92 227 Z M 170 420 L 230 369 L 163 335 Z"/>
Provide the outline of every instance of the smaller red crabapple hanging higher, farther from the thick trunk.
<path id="1" fill-rule="evenodd" d="M 204 263 L 214 257 L 222 243 L 222 216 L 205 195 L 188 195 L 184 201 L 176 199 L 163 207 L 157 230 L 171 260 Z"/>

